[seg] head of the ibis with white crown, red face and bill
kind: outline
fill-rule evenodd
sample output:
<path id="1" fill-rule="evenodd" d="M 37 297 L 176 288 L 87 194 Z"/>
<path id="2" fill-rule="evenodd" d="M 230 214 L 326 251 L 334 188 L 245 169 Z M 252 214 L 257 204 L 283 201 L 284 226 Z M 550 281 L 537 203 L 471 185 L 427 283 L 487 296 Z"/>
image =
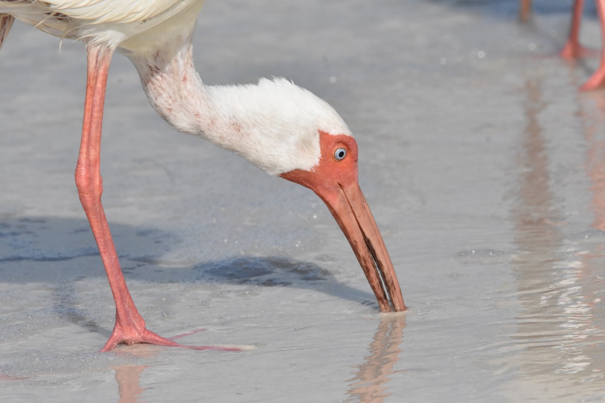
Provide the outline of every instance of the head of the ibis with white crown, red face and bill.
<path id="1" fill-rule="evenodd" d="M 338 113 L 284 79 L 214 87 L 209 97 L 220 122 L 211 127 L 215 143 L 313 190 L 350 242 L 381 311 L 404 311 L 393 263 L 359 189 L 357 143 Z"/>

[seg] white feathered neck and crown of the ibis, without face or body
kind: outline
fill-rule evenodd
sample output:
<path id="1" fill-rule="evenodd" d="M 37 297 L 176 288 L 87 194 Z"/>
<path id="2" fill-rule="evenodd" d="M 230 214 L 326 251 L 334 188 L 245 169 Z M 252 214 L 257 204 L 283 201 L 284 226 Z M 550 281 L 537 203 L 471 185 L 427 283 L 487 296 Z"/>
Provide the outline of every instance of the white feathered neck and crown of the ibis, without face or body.
<path id="1" fill-rule="evenodd" d="M 271 175 L 319 163 L 319 131 L 351 135 L 336 111 L 286 79 L 257 85 L 206 86 L 195 71 L 191 42 L 176 51 L 127 56 L 149 102 L 181 132 L 232 150 Z"/>

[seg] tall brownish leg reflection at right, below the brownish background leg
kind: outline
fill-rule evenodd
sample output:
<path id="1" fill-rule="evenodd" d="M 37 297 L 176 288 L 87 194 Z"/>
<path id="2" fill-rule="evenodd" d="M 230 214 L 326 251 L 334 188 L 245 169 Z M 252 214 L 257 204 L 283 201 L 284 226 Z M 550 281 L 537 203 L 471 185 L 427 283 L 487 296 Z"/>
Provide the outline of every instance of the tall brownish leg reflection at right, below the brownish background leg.
<path id="1" fill-rule="evenodd" d="M 563 312 L 557 303 L 564 286 L 557 285 L 554 267 L 561 266 L 558 251 L 563 243 L 561 213 L 555 207 L 549 175 L 544 129 L 538 119 L 547 106 L 541 83 L 528 80 L 524 88 L 526 117 L 523 147 L 518 153 L 518 202 L 512 209 L 514 242 L 520 253 L 512 261 L 518 300 L 523 311 L 517 316 L 517 343 L 534 347 L 520 356 L 521 370 L 537 375 L 561 359 L 551 349 L 564 330 Z"/>

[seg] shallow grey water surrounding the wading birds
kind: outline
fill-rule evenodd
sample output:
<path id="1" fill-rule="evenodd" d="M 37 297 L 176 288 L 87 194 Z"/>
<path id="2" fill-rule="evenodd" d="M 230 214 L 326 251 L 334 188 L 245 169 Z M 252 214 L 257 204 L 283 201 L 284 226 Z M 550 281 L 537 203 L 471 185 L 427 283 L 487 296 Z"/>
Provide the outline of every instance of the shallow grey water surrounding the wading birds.
<path id="1" fill-rule="evenodd" d="M 172 132 L 114 59 L 103 202 L 134 299 L 151 330 L 239 353 L 96 352 L 114 308 L 73 184 L 85 57 L 16 24 L 2 402 L 605 400 L 605 92 L 576 91 L 597 58 L 556 57 L 571 1 L 534 3 L 527 26 L 503 0 L 204 6 L 207 83 L 285 76 L 348 122 L 403 315 L 378 314 L 316 196 Z"/>

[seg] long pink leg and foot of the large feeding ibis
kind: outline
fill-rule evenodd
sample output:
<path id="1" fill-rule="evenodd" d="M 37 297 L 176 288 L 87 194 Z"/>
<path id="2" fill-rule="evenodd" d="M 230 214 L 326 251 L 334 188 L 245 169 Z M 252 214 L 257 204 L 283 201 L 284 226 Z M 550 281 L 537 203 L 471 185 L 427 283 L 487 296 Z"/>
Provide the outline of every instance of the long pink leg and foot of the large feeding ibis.
<path id="1" fill-rule="evenodd" d="M 110 339 L 101 351 L 109 351 L 119 343 L 151 343 L 160 346 L 188 347 L 198 350 L 240 350 L 238 348 L 183 346 L 175 341 L 160 337 L 146 329 L 145 320 L 134 306 L 134 301 L 132 301 L 130 292 L 126 287 L 116 248 L 111 238 L 110 228 L 101 205 L 101 193 L 103 192 L 100 175 L 101 124 L 107 73 L 113 50 L 108 50 L 99 45 L 89 45 L 87 52 L 88 77 L 82 143 L 80 143 L 80 153 L 76 166 L 76 186 L 80 202 L 82 202 L 82 207 L 93 230 L 94 239 L 99 247 L 111 293 L 116 301 L 116 324 Z"/>

